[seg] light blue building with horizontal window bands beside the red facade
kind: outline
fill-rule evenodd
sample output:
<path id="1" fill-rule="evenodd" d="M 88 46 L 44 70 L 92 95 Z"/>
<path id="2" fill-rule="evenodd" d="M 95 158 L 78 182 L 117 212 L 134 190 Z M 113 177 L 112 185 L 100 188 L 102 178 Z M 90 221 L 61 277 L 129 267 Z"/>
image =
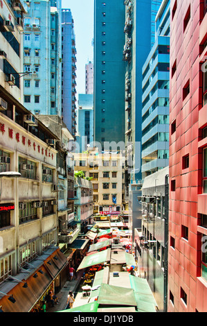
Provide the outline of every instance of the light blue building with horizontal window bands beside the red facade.
<path id="1" fill-rule="evenodd" d="M 155 19 L 154 45 L 143 65 L 142 178 L 169 164 L 170 0 Z"/>

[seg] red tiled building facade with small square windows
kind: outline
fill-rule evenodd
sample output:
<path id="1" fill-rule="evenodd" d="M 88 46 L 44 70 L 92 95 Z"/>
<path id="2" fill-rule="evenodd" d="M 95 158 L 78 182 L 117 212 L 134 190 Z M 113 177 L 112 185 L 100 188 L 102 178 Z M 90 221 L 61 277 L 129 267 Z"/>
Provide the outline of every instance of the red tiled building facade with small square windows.
<path id="1" fill-rule="evenodd" d="M 207 1 L 172 0 L 168 311 L 207 311 Z M 206 61 L 206 62 L 205 62 Z"/>

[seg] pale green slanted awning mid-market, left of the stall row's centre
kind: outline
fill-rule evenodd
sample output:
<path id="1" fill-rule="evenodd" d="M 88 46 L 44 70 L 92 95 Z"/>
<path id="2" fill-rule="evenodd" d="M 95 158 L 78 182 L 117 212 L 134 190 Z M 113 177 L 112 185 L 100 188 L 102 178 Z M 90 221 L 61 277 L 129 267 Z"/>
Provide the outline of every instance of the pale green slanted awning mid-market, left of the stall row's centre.
<path id="1" fill-rule="evenodd" d="M 80 266 L 78 267 L 77 271 L 79 271 L 82 268 L 87 268 L 89 266 L 101 264 L 105 261 L 109 261 L 111 257 L 111 249 L 103 250 L 100 252 L 97 252 L 94 255 L 86 256 L 84 259 L 82 259 L 82 262 Z"/>

